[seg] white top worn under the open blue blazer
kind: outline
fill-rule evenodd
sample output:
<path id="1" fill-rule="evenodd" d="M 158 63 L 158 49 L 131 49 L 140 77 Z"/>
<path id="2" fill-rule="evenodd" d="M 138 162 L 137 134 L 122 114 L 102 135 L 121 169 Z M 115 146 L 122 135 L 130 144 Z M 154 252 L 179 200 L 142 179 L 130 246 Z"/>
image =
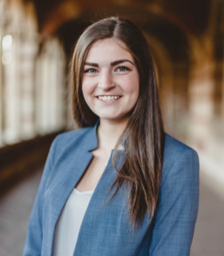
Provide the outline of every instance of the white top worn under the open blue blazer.
<path id="1" fill-rule="evenodd" d="M 73 189 L 55 227 L 52 256 L 73 256 L 81 222 L 93 191 Z"/>

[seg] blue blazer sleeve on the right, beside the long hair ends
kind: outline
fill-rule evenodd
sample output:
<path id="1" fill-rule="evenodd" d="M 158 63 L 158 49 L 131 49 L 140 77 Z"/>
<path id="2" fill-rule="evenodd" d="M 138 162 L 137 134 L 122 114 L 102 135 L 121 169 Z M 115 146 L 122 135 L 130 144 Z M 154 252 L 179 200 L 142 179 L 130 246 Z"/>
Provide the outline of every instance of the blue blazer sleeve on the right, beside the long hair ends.
<path id="1" fill-rule="evenodd" d="M 191 148 L 162 180 L 149 249 L 150 256 L 189 256 L 199 200 L 199 160 Z"/>

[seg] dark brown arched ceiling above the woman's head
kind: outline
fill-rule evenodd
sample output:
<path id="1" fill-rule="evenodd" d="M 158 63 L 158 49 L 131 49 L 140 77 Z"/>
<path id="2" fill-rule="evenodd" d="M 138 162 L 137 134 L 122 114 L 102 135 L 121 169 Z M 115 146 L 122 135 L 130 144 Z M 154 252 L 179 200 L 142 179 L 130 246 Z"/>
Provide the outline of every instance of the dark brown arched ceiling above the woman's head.
<path id="1" fill-rule="evenodd" d="M 57 33 L 67 54 L 81 32 L 100 17 L 127 17 L 160 40 L 174 61 L 187 62 L 188 36 L 204 33 L 211 0 L 33 0 L 43 35 Z"/>

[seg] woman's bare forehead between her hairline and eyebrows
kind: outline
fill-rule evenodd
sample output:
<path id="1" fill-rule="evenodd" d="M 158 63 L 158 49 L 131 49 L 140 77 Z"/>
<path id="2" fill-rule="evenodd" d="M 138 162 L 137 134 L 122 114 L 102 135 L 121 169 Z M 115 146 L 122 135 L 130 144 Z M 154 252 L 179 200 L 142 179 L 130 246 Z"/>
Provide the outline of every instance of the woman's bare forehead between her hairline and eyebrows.
<path id="1" fill-rule="evenodd" d="M 90 58 L 132 58 L 132 54 L 124 42 L 112 38 L 107 38 L 95 42 L 87 53 L 86 60 Z"/>

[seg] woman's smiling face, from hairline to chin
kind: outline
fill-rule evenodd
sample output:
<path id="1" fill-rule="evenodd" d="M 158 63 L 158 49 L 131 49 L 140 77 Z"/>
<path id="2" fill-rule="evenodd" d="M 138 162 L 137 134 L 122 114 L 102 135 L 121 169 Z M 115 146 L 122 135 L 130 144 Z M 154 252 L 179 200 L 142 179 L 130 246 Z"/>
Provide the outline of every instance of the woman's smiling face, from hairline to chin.
<path id="1" fill-rule="evenodd" d="M 139 73 L 122 41 L 105 39 L 93 44 L 84 63 L 82 91 L 100 119 L 129 118 L 139 96 Z"/>

